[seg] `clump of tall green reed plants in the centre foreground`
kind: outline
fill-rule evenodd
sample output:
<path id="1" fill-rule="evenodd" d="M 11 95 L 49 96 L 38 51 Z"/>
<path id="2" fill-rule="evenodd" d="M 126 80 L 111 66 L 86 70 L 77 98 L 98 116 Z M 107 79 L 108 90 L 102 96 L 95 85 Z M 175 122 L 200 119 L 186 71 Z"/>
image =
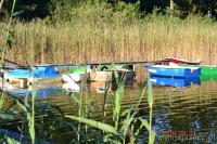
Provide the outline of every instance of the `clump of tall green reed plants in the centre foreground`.
<path id="1" fill-rule="evenodd" d="M 115 68 L 114 68 L 115 69 Z M 142 93 L 140 95 L 140 100 L 138 101 L 136 107 L 129 107 L 120 115 L 120 102 L 122 96 L 124 94 L 124 86 L 125 86 L 125 77 L 124 79 L 119 80 L 119 76 L 116 70 L 114 70 L 115 78 L 117 80 L 117 90 L 114 94 L 114 102 L 113 102 L 113 122 L 114 125 L 105 123 L 104 121 L 97 121 L 90 118 L 80 117 L 80 114 L 78 116 L 75 115 L 65 115 L 66 118 L 73 119 L 75 121 L 78 121 L 79 123 L 85 123 L 90 127 L 90 129 L 94 128 L 102 132 L 101 138 L 102 142 L 112 142 L 112 143 L 127 143 L 130 141 L 131 143 L 135 143 L 137 140 L 135 136 L 138 135 L 139 131 L 142 128 L 146 128 L 146 130 L 150 133 L 149 136 L 149 143 L 153 144 L 155 139 L 155 132 L 152 130 L 152 106 L 153 106 L 153 91 L 152 91 L 152 84 L 150 81 L 150 78 L 148 79 L 148 86 L 144 87 L 142 90 Z M 146 89 L 148 88 L 148 89 Z M 142 118 L 136 117 L 138 114 L 138 107 L 145 95 L 145 91 L 148 91 L 148 102 L 150 106 L 150 122 Z M 79 103 L 79 101 L 77 101 Z M 79 105 L 79 109 L 81 108 L 81 105 Z M 119 121 L 119 118 L 122 116 L 122 121 Z M 135 130 L 135 123 L 140 121 L 141 126 L 139 129 Z M 92 127 L 92 128 L 91 128 Z M 80 126 L 79 126 L 80 128 Z M 80 129 L 79 129 L 80 130 Z M 129 140 L 127 140 L 129 138 Z M 95 140 L 92 140 L 95 141 Z"/>

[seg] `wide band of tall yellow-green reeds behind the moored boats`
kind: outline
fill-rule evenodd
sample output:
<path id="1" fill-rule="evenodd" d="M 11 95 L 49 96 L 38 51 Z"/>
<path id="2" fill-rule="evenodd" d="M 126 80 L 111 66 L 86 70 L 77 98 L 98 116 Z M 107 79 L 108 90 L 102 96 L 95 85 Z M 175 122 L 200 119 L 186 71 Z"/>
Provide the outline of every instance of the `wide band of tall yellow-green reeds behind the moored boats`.
<path id="1" fill-rule="evenodd" d="M 16 22 L 7 57 L 22 64 L 31 61 L 58 64 L 152 61 L 171 56 L 217 64 L 217 24 L 205 17 L 179 19 L 152 15 L 131 19 L 130 24 L 114 19 L 84 21 L 78 17 L 56 25 L 44 21 Z"/>

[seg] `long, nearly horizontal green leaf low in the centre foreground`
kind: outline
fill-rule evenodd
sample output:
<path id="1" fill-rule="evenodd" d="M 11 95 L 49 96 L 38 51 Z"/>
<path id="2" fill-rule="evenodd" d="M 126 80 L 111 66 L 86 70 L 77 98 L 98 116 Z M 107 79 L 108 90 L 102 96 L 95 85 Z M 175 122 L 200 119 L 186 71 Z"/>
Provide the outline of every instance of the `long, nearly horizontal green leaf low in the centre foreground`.
<path id="1" fill-rule="evenodd" d="M 91 120 L 91 119 L 71 116 L 71 115 L 65 115 L 65 117 L 71 118 L 73 120 L 77 120 L 79 122 L 84 122 L 84 123 L 89 125 L 89 126 L 92 126 L 92 127 L 100 129 L 102 131 L 113 133 L 113 134 L 117 134 L 117 131 L 115 130 L 115 128 L 110 126 L 110 125 L 106 125 L 106 123 L 103 123 L 103 122 L 100 122 L 100 121 L 95 121 L 95 120 Z"/>

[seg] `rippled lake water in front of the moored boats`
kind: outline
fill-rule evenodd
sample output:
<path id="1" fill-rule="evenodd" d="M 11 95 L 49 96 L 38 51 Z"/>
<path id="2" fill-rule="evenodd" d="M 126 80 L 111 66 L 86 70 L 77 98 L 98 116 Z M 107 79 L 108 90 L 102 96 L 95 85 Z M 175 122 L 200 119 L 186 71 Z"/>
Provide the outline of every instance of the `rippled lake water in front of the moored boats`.
<path id="1" fill-rule="evenodd" d="M 191 81 L 190 84 L 181 88 L 153 86 L 152 116 L 153 129 L 156 132 L 155 143 L 217 143 L 217 81 Z M 122 97 L 122 112 L 137 105 L 144 86 L 145 82 L 126 84 Z M 36 135 L 44 135 L 52 143 L 74 143 L 77 140 L 74 132 L 77 125 L 63 119 L 61 113 L 76 116 L 84 114 L 85 117 L 99 121 L 104 120 L 114 126 L 112 109 L 115 86 L 110 88 L 106 100 L 102 89 L 99 89 L 99 87 L 104 88 L 103 83 L 84 83 L 80 87 L 82 92 L 67 91 L 61 86 L 38 91 L 36 96 L 38 108 L 36 109 L 44 115 L 36 116 L 36 122 L 42 122 L 39 125 L 42 127 L 37 126 Z M 17 108 L 21 112 L 15 100 L 22 100 L 26 91 L 22 90 L 23 94 L 21 94 L 21 89 L 10 91 L 5 99 L 4 110 Z M 102 113 L 104 102 L 104 113 Z M 81 108 L 78 108 L 79 105 Z M 105 115 L 104 118 L 103 115 Z M 149 119 L 146 95 L 142 99 L 137 117 Z M 17 130 L 17 127 L 23 128 L 23 125 L 22 120 L 14 120 L 7 122 L 3 128 Z M 136 125 L 136 127 L 139 126 Z M 89 135 L 94 139 L 98 134 L 90 131 Z M 138 143 L 148 143 L 145 129 L 141 130 Z"/>

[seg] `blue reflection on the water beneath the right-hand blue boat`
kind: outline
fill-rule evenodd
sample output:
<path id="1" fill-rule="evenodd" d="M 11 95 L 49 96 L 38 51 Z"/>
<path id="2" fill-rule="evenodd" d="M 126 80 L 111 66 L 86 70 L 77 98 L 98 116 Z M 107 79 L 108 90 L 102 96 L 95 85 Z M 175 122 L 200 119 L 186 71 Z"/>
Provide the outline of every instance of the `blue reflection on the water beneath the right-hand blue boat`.
<path id="1" fill-rule="evenodd" d="M 165 87 L 189 87 L 192 83 L 201 84 L 199 77 L 175 78 L 175 77 L 151 76 L 151 81 L 155 86 L 165 86 Z"/>

